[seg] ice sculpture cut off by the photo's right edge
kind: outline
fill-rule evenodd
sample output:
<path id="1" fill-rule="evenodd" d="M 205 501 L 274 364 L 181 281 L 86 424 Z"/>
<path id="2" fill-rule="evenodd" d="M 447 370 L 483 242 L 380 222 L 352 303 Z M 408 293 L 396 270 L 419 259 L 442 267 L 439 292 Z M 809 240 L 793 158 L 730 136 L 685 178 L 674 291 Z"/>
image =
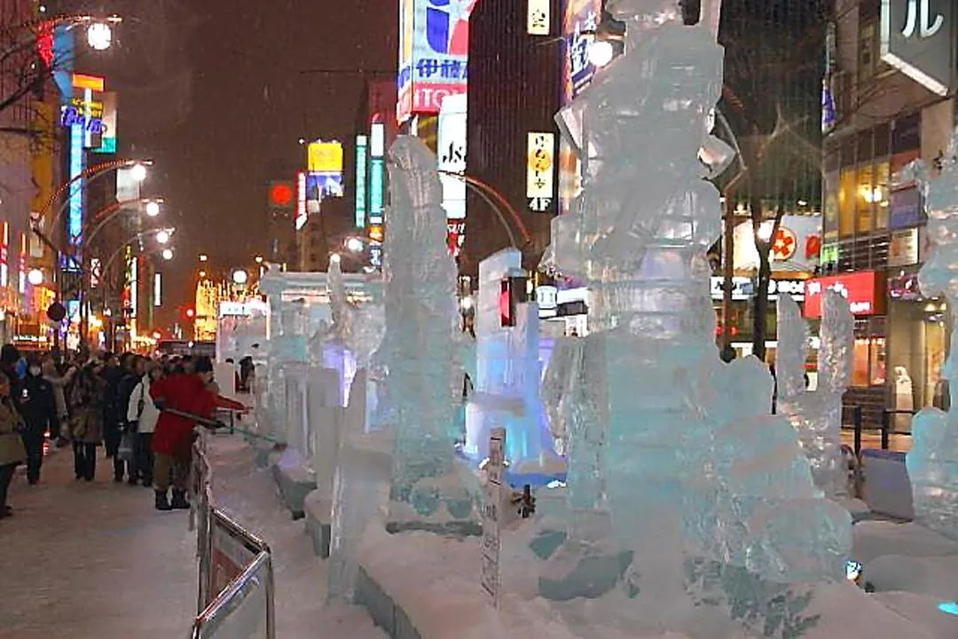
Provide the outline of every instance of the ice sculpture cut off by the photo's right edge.
<path id="1" fill-rule="evenodd" d="M 942 368 L 951 398 L 958 398 L 958 129 L 948 145 L 941 175 L 924 183 L 928 236 L 934 242 L 918 282 L 925 296 L 944 294 L 951 312 L 951 344 Z M 912 427 L 905 458 L 915 517 L 942 535 L 958 539 L 958 407 L 947 413 L 925 408 Z"/>

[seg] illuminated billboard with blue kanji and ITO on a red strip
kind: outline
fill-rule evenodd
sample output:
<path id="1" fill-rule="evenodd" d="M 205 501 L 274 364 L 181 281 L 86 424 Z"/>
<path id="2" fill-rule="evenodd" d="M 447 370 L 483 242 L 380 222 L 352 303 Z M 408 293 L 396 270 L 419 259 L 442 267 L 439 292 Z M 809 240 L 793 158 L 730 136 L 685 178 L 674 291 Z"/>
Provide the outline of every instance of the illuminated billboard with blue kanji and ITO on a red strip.
<path id="1" fill-rule="evenodd" d="M 466 93 L 469 15 L 477 0 L 399 0 L 400 123 Z"/>

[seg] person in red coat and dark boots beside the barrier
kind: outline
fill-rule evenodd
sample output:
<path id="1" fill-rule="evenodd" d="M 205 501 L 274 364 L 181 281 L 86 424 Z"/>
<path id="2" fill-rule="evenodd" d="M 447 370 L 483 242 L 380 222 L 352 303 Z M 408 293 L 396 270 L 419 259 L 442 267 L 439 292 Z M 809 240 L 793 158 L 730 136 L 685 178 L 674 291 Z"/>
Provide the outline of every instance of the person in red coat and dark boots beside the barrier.
<path id="1" fill-rule="evenodd" d="M 177 373 L 158 379 L 149 386 L 149 395 L 161 411 L 172 408 L 205 418 L 213 417 L 217 406 L 217 386 L 213 382 L 213 362 L 209 357 L 195 361 L 193 373 Z M 156 510 L 188 509 L 187 482 L 193 453 L 193 430 L 196 422 L 189 418 L 160 414 L 153 433 L 154 489 Z M 167 491 L 172 485 L 172 501 Z"/>

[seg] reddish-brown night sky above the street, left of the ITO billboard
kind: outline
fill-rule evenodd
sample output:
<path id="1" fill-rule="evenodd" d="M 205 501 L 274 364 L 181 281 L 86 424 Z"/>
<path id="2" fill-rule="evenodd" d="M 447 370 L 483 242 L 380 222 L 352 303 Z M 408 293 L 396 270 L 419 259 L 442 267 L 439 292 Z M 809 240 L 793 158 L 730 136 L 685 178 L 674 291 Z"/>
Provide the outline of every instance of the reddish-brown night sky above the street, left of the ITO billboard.
<path id="1" fill-rule="evenodd" d="M 266 183 L 305 163 L 301 137 L 350 140 L 363 82 L 395 69 L 389 0 L 117 0 L 121 148 L 156 161 L 148 189 L 177 227 L 164 311 L 192 295 L 196 255 L 245 265 L 265 247 Z M 111 77 L 108 75 L 108 78 Z"/>

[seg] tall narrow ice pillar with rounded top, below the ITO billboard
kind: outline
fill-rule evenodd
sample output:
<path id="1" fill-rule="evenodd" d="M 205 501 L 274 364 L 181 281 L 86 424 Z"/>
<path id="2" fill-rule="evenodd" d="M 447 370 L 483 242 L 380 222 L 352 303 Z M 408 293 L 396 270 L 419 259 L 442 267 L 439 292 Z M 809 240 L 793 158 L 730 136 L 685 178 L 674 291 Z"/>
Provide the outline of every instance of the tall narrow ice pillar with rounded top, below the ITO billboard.
<path id="1" fill-rule="evenodd" d="M 374 367 L 382 377 L 378 422 L 395 435 L 390 530 L 477 533 L 453 451 L 462 392 L 453 365 L 456 265 L 445 248 L 436 158 L 410 136 L 389 155 L 386 331 Z"/>

